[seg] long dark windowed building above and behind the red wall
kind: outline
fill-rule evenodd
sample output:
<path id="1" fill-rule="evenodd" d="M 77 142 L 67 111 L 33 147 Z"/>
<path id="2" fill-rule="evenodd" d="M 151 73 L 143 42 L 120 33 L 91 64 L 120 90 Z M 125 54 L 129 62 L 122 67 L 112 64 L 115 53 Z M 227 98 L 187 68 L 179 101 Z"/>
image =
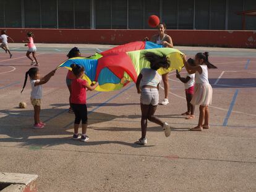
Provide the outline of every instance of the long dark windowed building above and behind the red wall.
<path id="1" fill-rule="evenodd" d="M 255 0 L 0 0 L 0 28 L 149 29 L 158 15 L 169 30 L 256 30 L 247 10 Z"/>

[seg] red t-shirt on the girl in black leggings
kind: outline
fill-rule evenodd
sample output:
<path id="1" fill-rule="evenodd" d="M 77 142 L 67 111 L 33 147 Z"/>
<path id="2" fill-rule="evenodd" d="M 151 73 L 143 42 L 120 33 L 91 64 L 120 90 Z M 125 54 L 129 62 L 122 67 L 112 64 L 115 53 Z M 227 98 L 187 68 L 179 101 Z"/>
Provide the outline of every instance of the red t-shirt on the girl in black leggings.
<path id="1" fill-rule="evenodd" d="M 74 104 L 86 104 L 86 85 L 87 81 L 82 78 L 75 78 L 71 83 L 70 101 Z"/>

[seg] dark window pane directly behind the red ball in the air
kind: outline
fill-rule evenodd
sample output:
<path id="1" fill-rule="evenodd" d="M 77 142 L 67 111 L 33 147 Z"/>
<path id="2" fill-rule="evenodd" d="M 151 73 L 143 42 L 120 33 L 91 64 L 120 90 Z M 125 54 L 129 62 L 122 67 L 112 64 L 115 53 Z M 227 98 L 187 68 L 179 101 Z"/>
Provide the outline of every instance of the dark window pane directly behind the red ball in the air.
<path id="1" fill-rule="evenodd" d="M 148 26 L 148 17 L 150 15 L 157 15 L 160 17 L 160 0 L 145 0 L 145 28 L 150 28 Z"/>

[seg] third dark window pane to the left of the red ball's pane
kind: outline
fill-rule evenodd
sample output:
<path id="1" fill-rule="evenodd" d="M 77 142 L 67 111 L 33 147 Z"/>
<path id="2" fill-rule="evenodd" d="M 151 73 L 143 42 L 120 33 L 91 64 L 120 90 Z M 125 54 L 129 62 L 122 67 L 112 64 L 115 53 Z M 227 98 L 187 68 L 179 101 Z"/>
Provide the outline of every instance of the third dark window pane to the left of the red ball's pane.
<path id="1" fill-rule="evenodd" d="M 111 4 L 105 0 L 95 0 L 96 28 L 111 28 Z"/>

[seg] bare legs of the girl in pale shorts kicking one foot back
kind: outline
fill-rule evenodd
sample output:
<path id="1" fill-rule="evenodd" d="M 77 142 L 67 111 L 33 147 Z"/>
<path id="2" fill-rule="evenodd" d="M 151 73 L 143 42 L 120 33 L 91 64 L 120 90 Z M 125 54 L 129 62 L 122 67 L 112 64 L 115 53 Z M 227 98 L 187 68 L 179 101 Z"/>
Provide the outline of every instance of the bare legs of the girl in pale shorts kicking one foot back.
<path id="1" fill-rule="evenodd" d="M 156 112 L 156 107 L 157 106 L 145 105 L 142 103 L 140 104 L 140 109 L 142 111 L 142 119 L 140 122 L 142 127 L 142 139 L 146 137 L 148 120 L 163 127 L 163 122 L 154 115 Z"/>

